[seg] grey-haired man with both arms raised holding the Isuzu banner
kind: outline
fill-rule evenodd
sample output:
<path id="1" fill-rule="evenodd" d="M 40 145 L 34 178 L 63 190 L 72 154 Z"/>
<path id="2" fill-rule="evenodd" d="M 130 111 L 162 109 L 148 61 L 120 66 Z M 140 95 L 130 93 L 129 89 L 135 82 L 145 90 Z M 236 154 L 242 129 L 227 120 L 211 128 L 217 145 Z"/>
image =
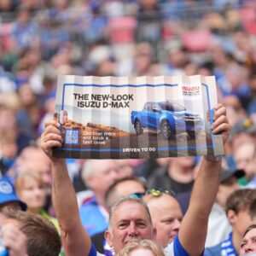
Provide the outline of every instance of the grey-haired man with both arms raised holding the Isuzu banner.
<path id="1" fill-rule="evenodd" d="M 66 118 L 67 119 L 67 118 Z M 217 104 L 213 116 L 212 133 L 222 133 L 226 143 L 230 125 L 226 109 Z M 63 122 L 65 123 L 65 116 Z M 72 256 L 101 255 L 96 253 L 90 236 L 79 218 L 79 208 L 65 160 L 52 157 L 52 148 L 61 147 L 61 125 L 56 120 L 46 123 L 41 137 L 41 147 L 51 160 L 53 172 L 53 202 L 56 216 L 61 225 L 61 237 L 65 254 Z M 218 192 L 221 157 L 204 156 L 200 172 L 195 180 L 189 209 L 181 224 L 178 236 L 166 248 L 166 255 L 201 255 L 207 236 L 207 221 Z M 139 201 L 123 200 L 113 207 L 109 229 L 105 237 L 118 255 L 125 243 L 132 239 L 154 240 L 155 230 L 146 207 Z"/>

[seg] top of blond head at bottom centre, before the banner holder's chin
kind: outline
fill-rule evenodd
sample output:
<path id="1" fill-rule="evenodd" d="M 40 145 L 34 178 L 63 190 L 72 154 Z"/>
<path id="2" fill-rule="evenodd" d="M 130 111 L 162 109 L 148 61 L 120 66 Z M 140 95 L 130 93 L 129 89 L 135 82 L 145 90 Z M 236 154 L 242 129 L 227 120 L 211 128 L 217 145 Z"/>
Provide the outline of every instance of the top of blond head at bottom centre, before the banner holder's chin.
<path id="1" fill-rule="evenodd" d="M 118 253 L 118 256 L 164 256 L 161 247 L 151 240 L 133 240 L 128 242 Z"/>

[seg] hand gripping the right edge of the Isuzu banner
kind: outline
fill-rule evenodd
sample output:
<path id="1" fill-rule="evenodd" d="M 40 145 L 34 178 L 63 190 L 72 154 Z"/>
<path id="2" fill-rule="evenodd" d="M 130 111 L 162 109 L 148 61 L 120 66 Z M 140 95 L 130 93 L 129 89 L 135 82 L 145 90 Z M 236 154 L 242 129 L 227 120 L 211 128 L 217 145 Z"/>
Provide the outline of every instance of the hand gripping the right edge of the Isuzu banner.
<path id="1" fill-rule="evenodd" d="M 230 136 L 230 124 L 226 116 L 226 108 L 223 104 L 218 103 L 214 109 L 215 113 L 213 116 L 214 122 L 212 124 L 212 133 L 222 133 L 223 142 L 226 143 Z"/>

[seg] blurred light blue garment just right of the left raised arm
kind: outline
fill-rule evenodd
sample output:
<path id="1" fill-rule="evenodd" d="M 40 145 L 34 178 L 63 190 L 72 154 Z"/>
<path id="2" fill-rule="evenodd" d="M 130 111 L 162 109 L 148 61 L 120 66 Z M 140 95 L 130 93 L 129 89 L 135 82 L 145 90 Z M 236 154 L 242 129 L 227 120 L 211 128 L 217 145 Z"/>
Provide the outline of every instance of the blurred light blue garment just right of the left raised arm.
<path id="1" fill-rule="evenodd" d="M 92 197 L 80 207 L 79 215 L 84 229 L 87 230 L 89 236 L 94 236 L 108 229 L 108 219 L 102 213 L 95 197 Z"/>

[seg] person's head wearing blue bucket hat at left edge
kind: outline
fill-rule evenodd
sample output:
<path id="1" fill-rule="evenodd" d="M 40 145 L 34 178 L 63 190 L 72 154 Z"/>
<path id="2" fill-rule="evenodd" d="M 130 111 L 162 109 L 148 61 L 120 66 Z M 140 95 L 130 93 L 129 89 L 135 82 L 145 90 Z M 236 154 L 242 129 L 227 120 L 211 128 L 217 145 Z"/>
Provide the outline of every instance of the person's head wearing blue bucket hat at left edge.
<path id="1" fill-rule="evenodd" d="M 7 177 L 0 179 L 0 212 L 3 211 L 3 208 L 26 211 L 26 203 L 20 201 L 14 185 Z"/>

